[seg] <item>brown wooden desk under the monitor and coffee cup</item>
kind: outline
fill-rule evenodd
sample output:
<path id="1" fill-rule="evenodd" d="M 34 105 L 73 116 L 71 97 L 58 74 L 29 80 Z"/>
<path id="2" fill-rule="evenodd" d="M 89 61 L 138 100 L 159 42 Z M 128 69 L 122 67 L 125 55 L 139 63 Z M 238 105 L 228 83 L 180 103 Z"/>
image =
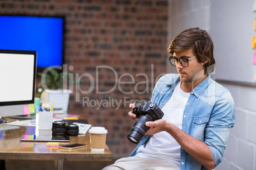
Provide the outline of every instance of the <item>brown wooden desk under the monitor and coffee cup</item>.
<path id="1" fill-rule="evenodd" d="M 20 126 L 19 129 L 0 131 L 0 159 L 4 160 L 57 160 L 57 169 L 63 169 L 64 160 L 112 160 L 112 154 L 108 146 L 104 152 L 92 152 L 90 150 L 90 136 L 70 136 L 69 142 L 60 142 L 60 145 L 83 143 L 86 148 L 75 150 L 46 148 L 43 141 L 20 141 L 22 134 L 33 134 L 36 127 Z"/>

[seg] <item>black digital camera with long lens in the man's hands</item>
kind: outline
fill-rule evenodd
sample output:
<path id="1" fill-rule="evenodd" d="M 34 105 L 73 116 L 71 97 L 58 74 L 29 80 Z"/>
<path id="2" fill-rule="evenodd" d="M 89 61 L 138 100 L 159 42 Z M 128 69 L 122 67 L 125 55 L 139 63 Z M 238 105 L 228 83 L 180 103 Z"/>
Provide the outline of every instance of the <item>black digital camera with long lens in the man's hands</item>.
<path id="1" fill-rule="evenodd" d="M 164 113 L 160 108 L 152 103 L 151 101 L 142 101 L 141 103 L 136 103 L 135 108 L 132 109 L 132 113 L 136 114 L 138 119 L 131 128 L 130 133 L 127 138 L 132 143 L 139 143 L 141 138 L 145 135 L 146 131 L 150 127 L 146 126 L 145 123 L 148 121 L 156 121 L 162 119 Z"/>

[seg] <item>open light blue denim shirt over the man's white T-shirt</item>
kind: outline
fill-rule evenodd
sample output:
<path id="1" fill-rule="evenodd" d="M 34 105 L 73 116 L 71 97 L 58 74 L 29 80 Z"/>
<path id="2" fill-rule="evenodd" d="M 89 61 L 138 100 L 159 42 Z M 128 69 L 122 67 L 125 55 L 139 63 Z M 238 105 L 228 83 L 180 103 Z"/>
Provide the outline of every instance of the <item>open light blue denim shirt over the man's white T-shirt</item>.
<path id="1" fill-rule="evenodd" d="M 179 81 L 178 74 L 162 76 L 153 89 L 152 102 L 162 108 L 173 94 Z M 190 92 L 184 109 L 182 130 L 208 145 L 215 167 L 222 161 L 229 131 L 234 126 L 234 110 L 234 101 L 229 90 L 213 81 L 210 75 Z M 141 145 L 146 145 L 149 137 L 150 135 L 143 137 L 131 156 L 136 155 Z M 206 168 L 181 148 L 180 169 Z"/>

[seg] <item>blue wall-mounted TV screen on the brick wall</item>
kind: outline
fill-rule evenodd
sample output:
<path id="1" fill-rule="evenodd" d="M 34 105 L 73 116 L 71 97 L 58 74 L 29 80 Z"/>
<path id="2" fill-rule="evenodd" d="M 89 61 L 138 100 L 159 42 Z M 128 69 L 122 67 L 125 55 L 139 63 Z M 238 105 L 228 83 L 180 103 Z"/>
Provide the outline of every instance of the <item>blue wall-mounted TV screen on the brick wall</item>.
<path id="1" fill-rule="evenodd" d="M 37 51 L 37 67 L 62 67 L 64 17 L 0 15 L 0 49 Z"/>

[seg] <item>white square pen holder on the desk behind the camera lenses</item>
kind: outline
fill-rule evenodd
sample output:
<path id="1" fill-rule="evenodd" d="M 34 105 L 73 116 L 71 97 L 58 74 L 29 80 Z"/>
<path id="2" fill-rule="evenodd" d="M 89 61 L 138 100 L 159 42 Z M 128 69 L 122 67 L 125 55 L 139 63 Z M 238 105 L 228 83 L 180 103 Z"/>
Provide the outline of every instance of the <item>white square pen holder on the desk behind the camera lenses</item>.
<path id="1" fill-rule="evenodd" d="M 51 130 L 53 121 L 52 112 L 36 112 L 36 129 L 38 130 Z"/>

